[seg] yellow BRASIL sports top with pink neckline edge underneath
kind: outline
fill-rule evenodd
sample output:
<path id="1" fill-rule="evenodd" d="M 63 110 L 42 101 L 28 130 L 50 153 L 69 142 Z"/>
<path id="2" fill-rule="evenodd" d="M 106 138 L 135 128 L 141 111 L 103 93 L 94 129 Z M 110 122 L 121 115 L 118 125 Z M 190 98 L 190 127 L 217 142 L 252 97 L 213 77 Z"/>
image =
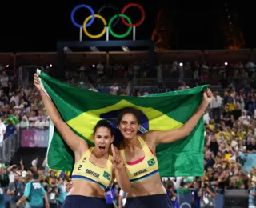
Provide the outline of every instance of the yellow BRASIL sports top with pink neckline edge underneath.
<path id="1" fill-rule="evenodd" d="M 159 173 L 157 157 L 140 136 L 138 136 L 138 141 L 141 143 L 145 154 L 143 158 L 140 158 L 135 162 L 126 162 L 123 145 L 121 145 L 120 150 L 130 182 L 138 182 Z"/>

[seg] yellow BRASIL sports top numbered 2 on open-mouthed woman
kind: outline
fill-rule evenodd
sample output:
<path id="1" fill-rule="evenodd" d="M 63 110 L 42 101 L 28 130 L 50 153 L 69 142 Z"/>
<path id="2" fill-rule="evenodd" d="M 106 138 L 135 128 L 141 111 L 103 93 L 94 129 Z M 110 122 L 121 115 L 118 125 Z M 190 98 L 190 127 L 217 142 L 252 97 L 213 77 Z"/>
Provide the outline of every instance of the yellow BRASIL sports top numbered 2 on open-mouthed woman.
<path id="1" fill-rule="evenodd" d="M 98 167 L 90 162 L 90 154 L 93 150 L 94 147 L 91 147 L 82 158 L 74 164 L 72 180 L 84 179 L 95 182 L 98 186 L 101 186 L 103 190 L 106 190 L 112 180 L 112 156 L 109 155 L 106 167 Z"/>

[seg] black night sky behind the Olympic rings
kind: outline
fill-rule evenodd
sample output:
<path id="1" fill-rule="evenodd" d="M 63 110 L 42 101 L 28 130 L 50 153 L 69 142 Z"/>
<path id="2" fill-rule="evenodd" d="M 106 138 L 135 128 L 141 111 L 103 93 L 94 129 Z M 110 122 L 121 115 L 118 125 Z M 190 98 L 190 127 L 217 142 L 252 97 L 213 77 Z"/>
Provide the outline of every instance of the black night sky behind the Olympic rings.
<path id="1" fill-rule="evenodd" d="M 57 1 L 56 1 L 57 2 Z M 60 1 L 59 1 L 60 2 Z M 107 4 L 122 7 L 131 1 L 107 1 Z M 220 22 L 225 22 L 224 3 L 205 1 L 204 3 L 190 1 L 135 1 L 141 4 L 146 11 L 145 21 L 137 28 L 137 39 L 150 39 L 155 26 L 158 10 L 166 9 L 170 12 L 173 22 L 171 46 L 173 50 L 202 50 L 222 49 Z M 74 6 L 86 3 L 92 6 L 95 12 L 105 1 L 62 1 L 62 5 L 55 1 L 34 1 L 32 3 L 4 2 L 1 10 L 1 52 L 22 51 L 56 51 L 58 41 L 78 40 L 79 29 L 70 21 L 70 12 Z M 252 2 L 250 3 L 252 4 Z M 254 6 L 239 3 L 229 4 L 231 12 L 238 14 L 238 26 L 242 29 L 246 40 L 245 48 L 256 47 L 256 30 L 254 30 Z M 86 9 L 78 10 L 75 15 L 78 23 L 82 23 L 88 16 Z M 107 20 L 113 16 L 113 10 L 102 12 Z M 133 22 L 140 18 L 140 11 L 132 8 L 126 11 Z M 102 23 L 97 20 L 88 30 L 98 33 L 102 30 Z M 127 30 L 120 21 L 114 27 L 115 32 Z M 84 35 L 84 40 L 88 40 Z M 103 38 L 104 39 L 104 38 Z M 114 38 L 111 38 L 114 39 Z M 128 37 L 131 39 L 131 36 Z"/>

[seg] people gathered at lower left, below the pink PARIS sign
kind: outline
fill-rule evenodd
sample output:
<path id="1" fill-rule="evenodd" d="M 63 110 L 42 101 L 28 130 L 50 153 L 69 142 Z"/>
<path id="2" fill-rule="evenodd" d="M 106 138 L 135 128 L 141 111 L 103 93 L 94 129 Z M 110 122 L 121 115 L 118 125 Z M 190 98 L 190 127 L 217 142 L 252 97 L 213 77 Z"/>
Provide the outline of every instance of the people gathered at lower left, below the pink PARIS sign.
<path id="1" fill-rule="evenodd" d="M 18 165 L 12 164 L 7 168 L 1 164 L 0 177 L 0 207 L 30 207 L 45 203 L 57 208 L 61 207 L 66 197 L 65 183 L 70 178 L 70 172 L 50 170 L 46 160 L 38 166 L 38 158 L 35 158 L 28 167 L 23 165 L 22 160 Z M 42 186 L 41 197 L 30 198 L 31 182 L 34 182 L 33 186 Z"/>

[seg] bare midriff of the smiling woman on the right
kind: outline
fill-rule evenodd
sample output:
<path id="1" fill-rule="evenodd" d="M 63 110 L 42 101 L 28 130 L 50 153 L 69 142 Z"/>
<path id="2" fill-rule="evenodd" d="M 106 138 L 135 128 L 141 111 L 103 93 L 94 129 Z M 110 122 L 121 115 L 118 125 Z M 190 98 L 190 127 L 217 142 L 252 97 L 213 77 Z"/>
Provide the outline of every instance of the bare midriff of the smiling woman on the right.
<path id="1" fill-rule="evenodd" d="M 155 194 L 166 194 L 166 189 L 162 186 L 159 174 L 150 176 L 150 178 L 145 178 L 140 182 L 132 183 L 127 197 L 140 197 Z"/>

